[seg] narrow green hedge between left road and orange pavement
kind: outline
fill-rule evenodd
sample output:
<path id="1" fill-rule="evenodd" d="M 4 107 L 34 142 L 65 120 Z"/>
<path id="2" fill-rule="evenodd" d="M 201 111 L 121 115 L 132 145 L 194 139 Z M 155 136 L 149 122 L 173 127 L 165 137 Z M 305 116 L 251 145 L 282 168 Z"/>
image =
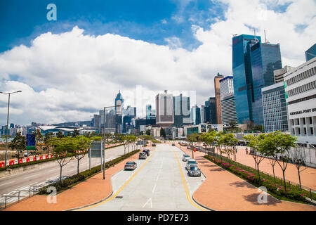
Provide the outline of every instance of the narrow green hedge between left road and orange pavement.
<path id="1" fill-rule="evenodd" d="M 109 162 L 105 162 L 105 169 L 112 167 L 114 165 L 117 165 L 119 162 L 126 160 L 126 158 L 129 158 L 131 155 L 134 155 L 138 153 L 140 150 L 136 149 L 133 150 L 131 153 L 127 153 L 126 155 L 122 155 L 118 158 L 115 158 L 114 160 L 111 160 Z M 67 188 L 70 188 L 71 186 L 76 185 L 80 181 L 83 181 L 84 179 L 87 179 L 89 176 L 92 176 L 93 174 L 97 174 L 101 170 L 101 165 L 98 165 L 96 167 L 93 167 L 91 169 L 87 169 L 83 172 L 80 172 L 79 174 L 67 177 L 66 179 L 62 180 L 61 182 L 58 181 L 54 184 L 49 184 L 48 186 L 44 186 L 42 188 L 39 188 L 39 194 L 40 195 L 47 195 L 47 188 L 49 186 L 54 186 L 57 191 L 63 191 Z"/>

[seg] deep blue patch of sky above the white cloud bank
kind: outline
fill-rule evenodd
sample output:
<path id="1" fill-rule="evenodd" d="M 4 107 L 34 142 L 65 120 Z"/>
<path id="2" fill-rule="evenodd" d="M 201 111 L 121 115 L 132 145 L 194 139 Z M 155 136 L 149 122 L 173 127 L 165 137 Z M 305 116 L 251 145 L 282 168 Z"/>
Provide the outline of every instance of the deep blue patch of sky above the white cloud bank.
<path id="1" fill-rule="evenodd" d="M 46 6 L 57 6 L 57 21 L 46 20 Z M 224 4 L 209 0 L 11 0 L 0 1 L 0 52 L 30 45 L 39 34 L 61 33 L 74 25 L 84 34 L 119 34 L 154 44 L 168 44 L 178 37 L 185 49 L 199 46 L 191 25 L 209 27 L 212 18 L 222 18 Z"/>

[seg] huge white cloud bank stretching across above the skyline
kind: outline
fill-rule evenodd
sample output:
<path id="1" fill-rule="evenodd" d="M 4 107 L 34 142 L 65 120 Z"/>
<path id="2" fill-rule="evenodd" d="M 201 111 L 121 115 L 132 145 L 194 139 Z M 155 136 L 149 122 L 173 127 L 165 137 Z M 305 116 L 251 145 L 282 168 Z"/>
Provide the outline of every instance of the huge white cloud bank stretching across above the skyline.
<path id="1" fill-rule="evenodd" d="M 186 1 L 189 2 L 189 1 Z M 232 33 L 253 34 L 280 43 L 282 64 L 297 66 L 316 40 L 315 1 L 298 0 L 284 13 L 273 11 L 282 0 L 220 0 L 228 10 L 225 20 L 209 29 L 192 25 L 202 45 L 181 48 L 178 37 L 159 46 L 114 34 L 84 35 L 74 27 L 62 34 L 41 34 L 32 46 L 15 46 L 0 54 L 0 90 L 22 90 L 11 98 L 11 122 L 90 120 L 103 106 L 113 105 L 121 90 L 125 104 L 136 105 L 143 86 L 143 105 L 154 105 L 157 91 L 197 91 L 197 103 L 213 96 L 213 76 L 232 75 Z M 267 3 L 270 2 L 270 5 Z M 296 30 L 304 25 L 301 32 Z M 18 75 L 18 81 L 10 81 Z M 6 123 L 7 96 L 0 94 L 0 124 Z M 139 113 L 138 109 L 138 113 Z"/>

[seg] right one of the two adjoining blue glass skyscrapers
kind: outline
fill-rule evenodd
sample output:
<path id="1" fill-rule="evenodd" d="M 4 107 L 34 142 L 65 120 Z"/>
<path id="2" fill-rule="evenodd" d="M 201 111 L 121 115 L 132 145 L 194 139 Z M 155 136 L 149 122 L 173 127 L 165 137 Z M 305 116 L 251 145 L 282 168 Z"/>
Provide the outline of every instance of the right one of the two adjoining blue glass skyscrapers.
<path id="1" fill-rule="evenodd" d="M 279 44 L 258 42 L 251 46 L 251 71 L 254 89 L 252 117 L 254 124 L 263 125 L 263 106 L 261 89 L 275 84 L 273 70 L 282 69 Z"/>

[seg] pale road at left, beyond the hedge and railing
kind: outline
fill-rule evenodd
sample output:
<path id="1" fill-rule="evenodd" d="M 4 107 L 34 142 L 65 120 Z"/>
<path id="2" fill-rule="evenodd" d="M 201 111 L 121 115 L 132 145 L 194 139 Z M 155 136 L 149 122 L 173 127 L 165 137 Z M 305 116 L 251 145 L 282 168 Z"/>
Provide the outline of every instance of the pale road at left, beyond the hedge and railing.
<path id="1" fill-rule="evenodd" d="M 127 153 L 127 150 L 126 150 Z M 105 150 L 105 161 L 124 155 L 124 146 L 110 148 Z M 67 161 L 66 161 L 67 162 Z M 91 167 L 100 165 L 100 158 L 91 158 Z M 88 154 L 80 160 L 79 172 L 89 168 Z M 65 167 L 62 167 L 62 176 L 72 176 L 77 174 L 77 159 L 70 161 Z M 0 178 L 0 194 L 11 194 L 18 190 L 29 190 L 32 186 L 44 186 L 47 181 L 59 179 L 60 166 L 58 162 L 53 162 L 47 166 L 30 169 L 20 174 L 13 174 Z"/>

